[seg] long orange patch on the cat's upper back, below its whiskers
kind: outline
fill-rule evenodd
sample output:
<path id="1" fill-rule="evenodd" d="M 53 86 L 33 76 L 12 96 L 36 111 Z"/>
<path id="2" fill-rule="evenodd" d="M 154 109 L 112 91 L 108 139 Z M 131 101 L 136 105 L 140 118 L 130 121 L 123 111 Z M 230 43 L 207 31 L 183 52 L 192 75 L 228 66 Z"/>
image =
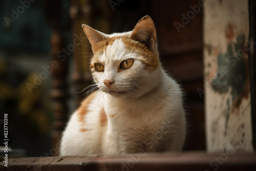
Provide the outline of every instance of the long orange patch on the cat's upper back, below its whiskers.
<path id="1" fill-rule="evenodd" d="M 79 119 L 79 122 L 83 122 L 84 117 L 86 116 L 86 114 L 88 112 L 88 106 L 89 106 L 90 102 L 93 100 L 93 98 L 95 97 L 96 93 L 97 92 L 93 92 L 86 99 L 84 99 L 82 101 L 82 104 L 78 108 L 78 119 Z"/>

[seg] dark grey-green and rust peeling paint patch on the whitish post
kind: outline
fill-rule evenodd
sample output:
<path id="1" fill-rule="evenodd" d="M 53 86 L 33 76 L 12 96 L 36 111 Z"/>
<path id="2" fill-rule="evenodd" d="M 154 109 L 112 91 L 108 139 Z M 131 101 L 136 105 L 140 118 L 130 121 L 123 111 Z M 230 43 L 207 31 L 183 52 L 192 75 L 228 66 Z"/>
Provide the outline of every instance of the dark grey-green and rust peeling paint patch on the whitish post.
<path id="1" fill-rule="evenodd" d="M 231 27 L 230 24 L 227 27 Z M 232 28 L 229 28 L 229 32 Z M 232 38 L 233 34 L 228 34 L 227 38 Z M 230 42 L 227 46 L 226 53 L 220 52 L 217 58 L 217 71 L 215 77 L 210 80 L 212 88 L 220 93 L 227 93 L 231 87 L 232 111 L 233 108 L 239 109 L 242 98 L 248 98 L 249 94 L 249 73 L 248 59 L 245 47 L 245 35 L 237 36 L 235 42 Z M 243 52 L 242 55 L 241 52 Z M 225 71 L 224 71 L 225 70 Z"/>

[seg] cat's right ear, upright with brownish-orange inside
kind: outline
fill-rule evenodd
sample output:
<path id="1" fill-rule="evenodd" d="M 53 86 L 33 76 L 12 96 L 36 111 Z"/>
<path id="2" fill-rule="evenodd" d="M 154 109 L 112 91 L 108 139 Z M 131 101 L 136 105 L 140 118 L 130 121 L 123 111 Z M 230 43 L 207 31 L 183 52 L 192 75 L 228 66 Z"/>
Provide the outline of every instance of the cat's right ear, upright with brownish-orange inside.
<path id="1" fill-rule="evenodd" d="M 145 44 L 149 50 L 154 51 L 157 42 L 157 33 L 150 16 L 144 16 L 139 20 L 133 29 L 131 37 Z"/>

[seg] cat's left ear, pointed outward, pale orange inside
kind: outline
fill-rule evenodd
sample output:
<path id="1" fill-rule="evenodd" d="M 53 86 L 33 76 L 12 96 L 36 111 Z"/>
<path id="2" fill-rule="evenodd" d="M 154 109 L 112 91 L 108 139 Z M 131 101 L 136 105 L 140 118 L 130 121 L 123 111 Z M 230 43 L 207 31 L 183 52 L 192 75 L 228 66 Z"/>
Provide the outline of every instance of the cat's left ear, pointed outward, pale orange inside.
<path id="1" fill-rule="evenodd" d="M 84 33 L 86 33 L 87 38 L 90 41 L 90 44 L 92 45 L 92 50 L 95 52 L 98 48 L 97 44 L 104 40 L 105 37 L 97 30 L 91 28 L 90 26 L 87 25 L 82 25 Z"/>

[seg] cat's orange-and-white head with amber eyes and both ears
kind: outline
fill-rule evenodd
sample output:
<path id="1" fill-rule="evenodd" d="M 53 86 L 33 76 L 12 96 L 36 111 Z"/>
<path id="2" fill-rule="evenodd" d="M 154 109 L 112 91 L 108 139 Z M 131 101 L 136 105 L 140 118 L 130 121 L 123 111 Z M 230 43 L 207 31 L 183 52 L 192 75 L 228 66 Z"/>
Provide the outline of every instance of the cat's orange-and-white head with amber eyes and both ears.
<path id="1" fill-rule="evenodd" d="M 153 20 L 145 16 L 133 31 L 104 34 L 82 25 L 93 50 L 91 71 L 98 88 L 115 97 L 139 98 L 159 83 L 160 62 Z"/>

